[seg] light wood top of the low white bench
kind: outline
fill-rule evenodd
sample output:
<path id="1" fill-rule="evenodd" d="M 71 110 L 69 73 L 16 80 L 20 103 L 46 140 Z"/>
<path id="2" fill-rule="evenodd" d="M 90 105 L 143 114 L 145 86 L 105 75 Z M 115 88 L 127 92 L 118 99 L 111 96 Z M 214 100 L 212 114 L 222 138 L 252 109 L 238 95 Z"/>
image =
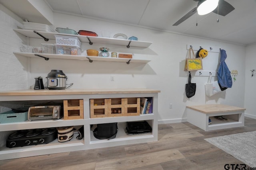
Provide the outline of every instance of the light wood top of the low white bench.
<path id="1" fill-rule="evenodd" d="M 186 106 L 186 107 L 196 111 L 200 111 L 202 113 L 206 113 L 206 114 L 245 110 L 245 108 L 242 108 L 242 107 L 228 106 L 223 104 L 205 104 L 205 105 Z"/>

